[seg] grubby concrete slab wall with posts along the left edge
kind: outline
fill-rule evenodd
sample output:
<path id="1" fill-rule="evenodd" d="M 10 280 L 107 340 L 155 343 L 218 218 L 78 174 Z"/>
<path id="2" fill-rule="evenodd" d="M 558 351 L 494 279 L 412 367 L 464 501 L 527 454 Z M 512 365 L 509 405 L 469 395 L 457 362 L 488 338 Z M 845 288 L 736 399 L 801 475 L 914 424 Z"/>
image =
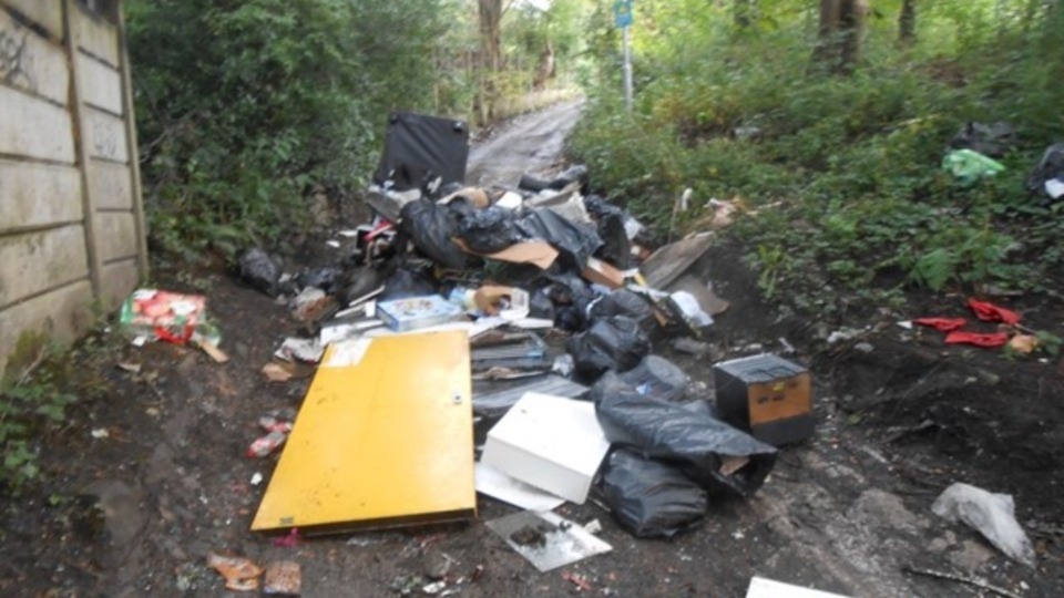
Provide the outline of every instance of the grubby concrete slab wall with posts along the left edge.
<path id="1" fill-rule="evenodd" d="M 0 0 L 0 372 L 24 332 L 115 309 L 146 257 L 117 2 Z"/>

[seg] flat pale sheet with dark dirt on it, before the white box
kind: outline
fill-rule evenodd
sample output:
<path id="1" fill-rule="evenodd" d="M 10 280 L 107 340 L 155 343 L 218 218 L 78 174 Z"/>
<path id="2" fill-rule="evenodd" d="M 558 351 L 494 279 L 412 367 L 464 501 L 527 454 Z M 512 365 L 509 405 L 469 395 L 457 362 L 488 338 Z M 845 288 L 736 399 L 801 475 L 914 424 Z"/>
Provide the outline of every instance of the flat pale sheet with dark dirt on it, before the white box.
<path id="1" fill-rule="evenodd" d="M 515 513 L 485 524 L 540 573 L 608 553 L 612 546 L 554 513 Z"/>

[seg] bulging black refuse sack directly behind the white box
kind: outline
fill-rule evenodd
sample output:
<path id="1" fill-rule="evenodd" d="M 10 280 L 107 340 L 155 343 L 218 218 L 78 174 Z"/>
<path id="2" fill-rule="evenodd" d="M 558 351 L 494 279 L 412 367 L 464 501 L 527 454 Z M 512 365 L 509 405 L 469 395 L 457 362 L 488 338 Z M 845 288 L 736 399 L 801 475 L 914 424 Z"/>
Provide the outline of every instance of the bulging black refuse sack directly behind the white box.
<path id="1" fill-rule="evenodd" d="M 573 355 L 576 374 L 590 381 L 606 370 L 635 368 L 651 352 L 651 342 L 635 320 L 617 316 L 597 320 L 587 331 L 571 337 L 565 350 Z"/>

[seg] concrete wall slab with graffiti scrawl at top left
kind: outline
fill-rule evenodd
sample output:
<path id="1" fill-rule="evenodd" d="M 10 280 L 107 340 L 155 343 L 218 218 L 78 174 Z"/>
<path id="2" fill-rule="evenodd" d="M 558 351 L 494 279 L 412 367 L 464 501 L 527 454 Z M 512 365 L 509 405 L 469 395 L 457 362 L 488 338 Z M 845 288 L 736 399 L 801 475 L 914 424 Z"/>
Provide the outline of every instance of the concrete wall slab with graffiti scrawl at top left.
<path id="1" fill-rule="evenodd" d="M 65 105 L 70 93 L 66 54 L 0 11 L 0 81 Z"/>

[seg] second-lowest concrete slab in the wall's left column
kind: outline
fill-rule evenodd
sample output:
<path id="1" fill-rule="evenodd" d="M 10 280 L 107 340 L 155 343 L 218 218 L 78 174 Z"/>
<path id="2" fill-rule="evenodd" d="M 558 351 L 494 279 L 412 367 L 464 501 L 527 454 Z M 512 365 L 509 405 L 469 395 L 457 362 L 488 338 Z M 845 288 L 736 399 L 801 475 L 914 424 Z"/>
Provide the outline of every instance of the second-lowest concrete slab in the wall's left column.
<path id="1" fill-rule="evenodd" d="M 0 306 L 88 274 L 81 225 L 0 237 Z"/>

